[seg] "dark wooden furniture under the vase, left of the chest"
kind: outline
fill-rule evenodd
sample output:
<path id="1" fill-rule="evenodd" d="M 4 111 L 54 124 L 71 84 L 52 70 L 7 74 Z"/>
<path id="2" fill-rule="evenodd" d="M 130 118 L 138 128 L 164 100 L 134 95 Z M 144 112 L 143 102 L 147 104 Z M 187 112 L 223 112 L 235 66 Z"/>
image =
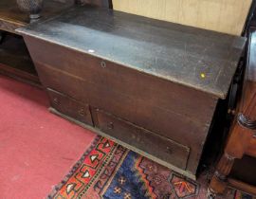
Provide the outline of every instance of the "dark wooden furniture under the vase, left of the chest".
<path id="1" fill-rule="evenodd" d="M 58 0 L 45 0 L 40 20 L 60 14 L 73 5 L 73 0 L 66 0 L 64 3 Z M 26 27 L 29 23 L 29 14 L 18 8 L 16 0 L 0 1 L 0 73 L 41 86 L 27 46 L 15 31 L 16 28 Z"/>

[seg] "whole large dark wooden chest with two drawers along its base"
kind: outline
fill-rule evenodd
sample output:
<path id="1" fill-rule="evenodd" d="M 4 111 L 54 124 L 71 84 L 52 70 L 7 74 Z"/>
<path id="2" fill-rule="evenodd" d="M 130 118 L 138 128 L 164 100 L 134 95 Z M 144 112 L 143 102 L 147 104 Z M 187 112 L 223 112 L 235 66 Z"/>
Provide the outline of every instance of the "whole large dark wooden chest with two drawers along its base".
<path id="1" fill-rule="evenodd" d="M 93 7 L 18 31 L 52 112 L 195 178 L 244 38 Z"/>

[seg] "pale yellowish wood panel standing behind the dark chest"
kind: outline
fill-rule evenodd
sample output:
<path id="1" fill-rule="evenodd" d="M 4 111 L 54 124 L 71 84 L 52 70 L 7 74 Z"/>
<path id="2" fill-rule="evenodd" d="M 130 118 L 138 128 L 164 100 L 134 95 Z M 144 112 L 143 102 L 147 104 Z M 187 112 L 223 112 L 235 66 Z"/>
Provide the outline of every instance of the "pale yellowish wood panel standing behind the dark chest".
<path id="1" fill-rule="evenodd" d="M 252 0 L 113 0 L 116 10 L 240 35 Z"/>

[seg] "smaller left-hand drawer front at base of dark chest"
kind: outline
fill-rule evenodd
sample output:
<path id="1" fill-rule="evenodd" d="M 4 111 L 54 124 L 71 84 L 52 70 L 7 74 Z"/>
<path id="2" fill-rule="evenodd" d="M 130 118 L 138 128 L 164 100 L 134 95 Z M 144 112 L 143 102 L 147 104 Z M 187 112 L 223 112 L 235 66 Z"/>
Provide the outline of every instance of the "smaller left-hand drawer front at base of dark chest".
<path id="1" fill-rule="evenodd" d="M 82 104 L 76 99 L 72 99 L 49 88 L 47 88 L 47 93 L 50 98 L 51 107 L 70 118 L 93 125 L 89 105 Z"/>

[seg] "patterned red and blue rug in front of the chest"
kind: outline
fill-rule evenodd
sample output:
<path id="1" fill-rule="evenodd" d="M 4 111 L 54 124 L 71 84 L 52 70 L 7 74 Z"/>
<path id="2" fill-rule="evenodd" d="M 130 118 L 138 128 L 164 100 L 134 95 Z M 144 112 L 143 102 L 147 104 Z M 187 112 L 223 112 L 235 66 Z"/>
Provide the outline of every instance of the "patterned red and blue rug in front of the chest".
<path id="1" fill-rule="evenodd" d="M 90 149 L 56 186 L 54 199 L 206 199 L 209 172 L 192 181 L 98 136 Z M 255 199 L 229 190 L 225 199 Z"/>

